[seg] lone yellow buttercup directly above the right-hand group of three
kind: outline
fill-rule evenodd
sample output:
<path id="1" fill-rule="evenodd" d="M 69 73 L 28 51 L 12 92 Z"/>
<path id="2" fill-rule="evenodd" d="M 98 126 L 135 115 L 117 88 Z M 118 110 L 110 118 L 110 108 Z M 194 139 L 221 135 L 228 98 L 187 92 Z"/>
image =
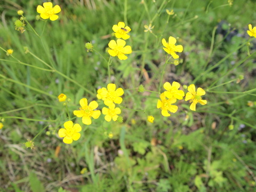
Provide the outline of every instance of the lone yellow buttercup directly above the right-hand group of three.
<path id="1" fill-rule="evenodd" d="M 179 55 L 177 55 L 175 52 L 182 52 L 183 51 L 183 46 L 182 45 L 175 45 L 177 40 L 170 36 L 168 43 L 165 41 L 165 39 L 162 39 L 162 43 L 165 47 L 163 47 L 164 51 L 166 53 L 171 54 L 173 59 L 178 59 Z"/>

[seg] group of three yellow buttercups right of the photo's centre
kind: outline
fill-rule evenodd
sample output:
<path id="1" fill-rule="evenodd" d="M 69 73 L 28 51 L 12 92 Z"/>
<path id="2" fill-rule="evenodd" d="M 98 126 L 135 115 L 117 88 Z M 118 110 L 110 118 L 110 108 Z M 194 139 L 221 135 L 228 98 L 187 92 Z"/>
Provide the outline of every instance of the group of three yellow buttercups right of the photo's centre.
<path id="1" fill-rule="evenodd" d="M 170 113 L 176 113 L 178 110 L 178 106 L 172 105 L 178 100 L 182 100 L 185 96 L 184 91 L 179 90 L 180 84 L 178 82 L 173 82 L 172 85 L 169 82 L 164 83 L 164 91 L 160 94 L 160 99 L 157 101 L 157 108 L 161 108 L 162 115 L 165 117 L 170 116 Z M 188 92 L 185 97 L 185 101 L 190 100 L 191 103 L 190 109 L 196 110 L 196 104 L 199 102 L 201 105 L 205 105 L 207 103 L 206 100 L 202 99 L 202 95 L 205 94 L 205 91 L 199 87 L 197 91 L 195 90 L 195 85 L 191 84 L 188 86 Z"/>

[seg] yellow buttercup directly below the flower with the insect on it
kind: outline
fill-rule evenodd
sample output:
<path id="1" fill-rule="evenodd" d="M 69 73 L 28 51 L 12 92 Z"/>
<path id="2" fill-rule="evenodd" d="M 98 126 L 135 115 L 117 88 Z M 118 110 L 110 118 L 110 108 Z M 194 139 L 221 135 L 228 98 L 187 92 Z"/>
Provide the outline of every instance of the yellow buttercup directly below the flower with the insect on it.
<path id="1" fill-rule="evenodd" d="M 123 39 L 117 39 L 117 41 L 115 42 L 115 40 L 111 40 L 108 44 L 109 46 L 109 50 L 108 53 L 112 56 L 112 57 L 118 57 L 118 59 L 120 60 L 125 60 L 127 59 L 125 54 L 130 54 L 132 53 L 132 47 L 130 45 L 124 46 L 126 44 L 126 42 Z"/>

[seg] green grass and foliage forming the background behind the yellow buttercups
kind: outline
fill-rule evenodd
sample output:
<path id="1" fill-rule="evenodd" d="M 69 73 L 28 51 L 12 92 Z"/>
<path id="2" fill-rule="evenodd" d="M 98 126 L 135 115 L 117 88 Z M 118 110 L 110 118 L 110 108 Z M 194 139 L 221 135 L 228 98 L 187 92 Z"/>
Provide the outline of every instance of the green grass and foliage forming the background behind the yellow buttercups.
<path id="1" fill-rule="evenodd" d="M 0 2 L 0 191 L 255 190 L 256 42 L 246 33 L 256 25 L 253 1 L 53 1 L 59 19 L 47 22 L 35 19 L 40 4 Z M 40 37 L 28 24 L 22 34 L 14 29 L 18 10 Z M 126 44 L 133 51 L 127 60 L 112 58 L 108 70 L 106 49 L 119 21 L 132 29 Z M 150 23 L 154 34 L 144 32 Z M 169 36 L 184 47 L 178 66 L 166 63 L 162 38 Z M 191 111 L 181 100 L 177 113 L 163 117 L 157 100 L 173 81 L 185 93 L 182 85 L 202 87 L 207 105 Z M 97 90 L 110 82 L 125 91 L 117 105 L 123 123 L 101 114 L 84 125 L 73 115 L 79 100 L 96 100 L 101 110 Z M 58 130 L 70 119 L 82 131 L 67 145 Z M 27 139 L 35 149 L 25 147 Z"/>

